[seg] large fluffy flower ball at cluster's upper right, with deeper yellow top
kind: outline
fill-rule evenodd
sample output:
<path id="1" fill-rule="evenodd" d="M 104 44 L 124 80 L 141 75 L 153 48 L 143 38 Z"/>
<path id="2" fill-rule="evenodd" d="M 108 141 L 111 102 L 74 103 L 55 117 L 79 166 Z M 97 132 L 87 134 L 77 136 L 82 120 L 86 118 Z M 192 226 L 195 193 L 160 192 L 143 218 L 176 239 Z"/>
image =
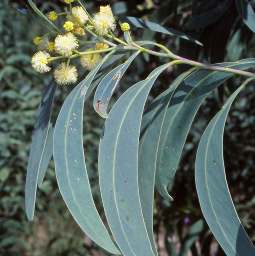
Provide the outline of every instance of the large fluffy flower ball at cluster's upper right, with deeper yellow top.
<path id="1" fill-rule="evenodd" d="M 116 28 L 116 21 L 109 5 L 100 7 L 100 11 L 93 18 L 93 24 L 98 35 L 106 35 Z"/>

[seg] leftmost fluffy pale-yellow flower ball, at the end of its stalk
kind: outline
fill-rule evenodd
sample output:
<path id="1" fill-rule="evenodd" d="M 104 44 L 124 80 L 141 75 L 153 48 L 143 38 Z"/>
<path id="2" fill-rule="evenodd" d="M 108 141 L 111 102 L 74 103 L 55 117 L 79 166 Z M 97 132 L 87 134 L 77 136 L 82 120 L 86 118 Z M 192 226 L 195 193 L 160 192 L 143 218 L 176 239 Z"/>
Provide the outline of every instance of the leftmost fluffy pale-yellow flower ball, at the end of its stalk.
<path id="1" fill-rule="evenodd" d="M 50 54 L 46 51 L 36 52 L 31 59 L 32 67 L 39 73 L 45 73 L 51 70 L 51 68 L 47 66 L 50 62 L 49 58 Z"/>

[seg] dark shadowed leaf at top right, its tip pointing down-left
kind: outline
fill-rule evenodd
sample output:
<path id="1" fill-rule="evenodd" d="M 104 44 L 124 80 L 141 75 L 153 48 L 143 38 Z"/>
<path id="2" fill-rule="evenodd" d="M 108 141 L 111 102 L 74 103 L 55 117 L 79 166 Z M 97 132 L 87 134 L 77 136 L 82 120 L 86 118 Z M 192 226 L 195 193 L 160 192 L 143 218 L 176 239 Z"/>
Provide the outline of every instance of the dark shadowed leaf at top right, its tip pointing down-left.
<path id="1" fill-rule="evenodd" d="M 198 29 L 214 23 L 216 20 L 222 17 L 222 15 L 225 12 L 227 12 L 232 2 L 233 0 L 226 0 L 226 1 L 220 2 L 216 8 L 208 10 L 207 12 L 203 12 L 199 16 L 196 16 L 195 18 L 191 19 L 188 23 L 186 23 L 183 26 L 183 28 Z"/>

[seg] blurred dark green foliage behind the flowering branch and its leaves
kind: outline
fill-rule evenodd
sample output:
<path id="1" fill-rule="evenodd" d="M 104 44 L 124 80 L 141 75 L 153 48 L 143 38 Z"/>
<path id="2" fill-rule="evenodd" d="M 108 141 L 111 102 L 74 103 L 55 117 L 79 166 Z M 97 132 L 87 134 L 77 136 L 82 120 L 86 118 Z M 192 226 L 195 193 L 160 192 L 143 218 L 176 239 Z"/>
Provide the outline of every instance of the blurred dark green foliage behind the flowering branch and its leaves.
<path id="1" fill-rule="evenodd" d="M 140 1 L 82 1 L 92 14 L 100 5 L 111 4 L 114 16 L 134 16 L 182 30 L 190 18 L 192 1 L 140 0 Z M 35 1 L 45 14 L 61 12 L 63 3 Z M 38 74 L 30 65 L 31 57 L 38 50 L 33 44 L 36 36 L 47 31 L 18 9 L 27 8 L 26 1 L 3 0 L 0 3 L 0 255 L 110 255 L 94 244 L 72 219 L 57 187 L 54 163 L 50 162 L 44 182 L 37 192 L 35 217 L 27 221 L 25 214 L 25 175 L 31 136 L 37 108 L 52 73 Z M 232 8 L 232 9 L 231 9 Z M 231 6 L 231 13 L 235 7 Z M 229 15 L 229 14 L 225 14 Z M 225 17 L 223 16 L 223 18 Z M 203 47 L 158 33 L 136 29 L 136 39 L 149 39 L 165 44 L 172 52 L 206 63 L 237 61 L 254 57 L 253 33 L 235 16 L 232 24 L 223 18 L 197 30 L 187 31 L 203 42 Z M 225 17 L 226 18 L 226 17 Z M 58 21 L 61 23 L 61 21 Z M 221 31 L 219 26 L 226 23 Z M 231 25 L 231 26 L 230 26 Z M 210 33 L 209 33 L 210 32 Z M 223 36 L 215 37 L 214 33 Z M 211 34 L 211 35 L 210 35 Z M 115 31 L 121 36 L 120 29 Z M 219 40 L 221 38 L 221 40 Z M 144 79 L 163 61 L 153 56 L 139 56 L 115 93 L 115 99 L 135 82 Z M 149 101 L 171 85 L 187 66 L 166 70 L 155 83 Z M 82 74 L 82 70 L 80 74 Z M 225 255 L 210 233 L 200 211 L 194 183 L 196 148 L 203 129 L 220 109 L 222 100 L 240 85 L 242 77 L 228 80 L 219 92 L 210 95 L 203 103 L 187 138 L 177 174 L 171 184 L 169 203 L 155 193 L 154 229 L 161 256 L 170 255 L 173 248 L 181 255 Z M 234 102 L 227 119 L 224 135 L 225 168 L 230 193 L 239 217 L 255 243 L 255 89 L 249 84 Z M 54 121 L 65 97 L 73 88 L 59 86 L 53 107 Z M 114 98 L 113 98 L 114 101 Z M 93 111 L 91 101 L 85 106 L 84 147 L 91 187 L 99 212 L 104 219 L 97 183 L 98 139 L 104 120 Z M 199 221 L 199 222 L 196 222 Z M 198 229 L 190 229 L 194 223 Z M 189 232 L 193 230 L 194 232 Z M 190 246 L 181 247 L 187 241 Z M 173 254 L 172 254 L 173 255 Z M 178 254 L 176 254 L 178 255 Z"/>

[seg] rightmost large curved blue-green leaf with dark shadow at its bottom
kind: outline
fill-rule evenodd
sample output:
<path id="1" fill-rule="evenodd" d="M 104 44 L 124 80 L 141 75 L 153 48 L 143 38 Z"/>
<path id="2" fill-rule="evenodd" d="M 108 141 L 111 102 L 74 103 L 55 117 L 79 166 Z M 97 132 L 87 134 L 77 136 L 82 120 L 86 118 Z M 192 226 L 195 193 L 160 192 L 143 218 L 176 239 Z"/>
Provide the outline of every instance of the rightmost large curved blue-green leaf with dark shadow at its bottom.
<path id="1" fill-rule="evenodd" d="M 228 256 L 252 256 L 255 248 L 233 205 L 223 162 L 223 131 L 230 106 L 243 86 L 227 100 L 200 140 L 195 180 L 200 206 L 215 238 Z"/>

